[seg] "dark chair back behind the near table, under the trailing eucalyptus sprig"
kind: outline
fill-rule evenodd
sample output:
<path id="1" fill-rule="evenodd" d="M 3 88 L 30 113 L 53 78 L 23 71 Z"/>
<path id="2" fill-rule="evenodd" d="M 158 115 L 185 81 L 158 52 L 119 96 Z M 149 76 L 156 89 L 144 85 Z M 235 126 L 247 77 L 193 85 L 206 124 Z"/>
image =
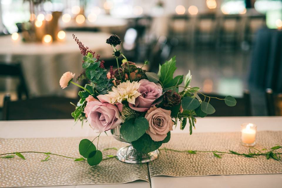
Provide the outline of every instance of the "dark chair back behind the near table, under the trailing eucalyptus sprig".
<path id="1" fill-rule="evenodd" d="M 225 96 L 205 94 L 210 97 L 217 97 L 224 99 Z M 202 99 L 203 96 L 199 95 Z M 244 91 L 242 98 L 235 98 L 237 103 L 236 106 L 229 107 L 225 105 L 224 100 L 211 99 L 210 104 L 215 108 L 215 113 L 208 116 L 251 116 L 251 100 L 248 90 Z"/>

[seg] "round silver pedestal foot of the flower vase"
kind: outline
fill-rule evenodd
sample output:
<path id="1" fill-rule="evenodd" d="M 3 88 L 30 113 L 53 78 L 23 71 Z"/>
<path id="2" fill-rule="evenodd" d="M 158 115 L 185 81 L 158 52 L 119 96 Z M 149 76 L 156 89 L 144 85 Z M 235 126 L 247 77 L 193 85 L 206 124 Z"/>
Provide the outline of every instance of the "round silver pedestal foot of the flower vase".
<path id="1" fill-rule="evenodd" d="M 122 147 L 117 151 L 117 158 L 126 163 L 146 163 L 158 158 L 159 150 L 152 151 L 150 153 L 142 154 L 137 152 L 132 145 Z"/>

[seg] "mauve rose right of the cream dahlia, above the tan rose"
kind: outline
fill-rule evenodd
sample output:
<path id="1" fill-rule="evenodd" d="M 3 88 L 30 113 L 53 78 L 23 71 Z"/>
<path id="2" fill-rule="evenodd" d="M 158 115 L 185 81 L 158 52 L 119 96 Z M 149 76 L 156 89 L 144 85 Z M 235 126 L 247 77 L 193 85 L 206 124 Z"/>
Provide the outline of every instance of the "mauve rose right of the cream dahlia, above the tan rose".
<path id="1" fill-rule="evenodd" d="M 151 106 L 161 102 L 161 100 L 156 102 L 156 99 L 162 95 L 162 86 L 146 79 L 140 80 L 138 83 L 140 86 L 137 91 L 141 95 L 135 99 L 135 105 L 129 103 L 129 107 L 138 112 L 145 112 Z"/>

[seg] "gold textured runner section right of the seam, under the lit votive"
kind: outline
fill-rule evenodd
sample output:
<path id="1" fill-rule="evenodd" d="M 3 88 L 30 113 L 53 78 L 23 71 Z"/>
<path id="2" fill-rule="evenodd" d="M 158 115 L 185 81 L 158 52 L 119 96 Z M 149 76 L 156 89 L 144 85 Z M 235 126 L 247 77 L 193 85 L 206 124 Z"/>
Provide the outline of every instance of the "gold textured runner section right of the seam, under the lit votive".
<path id="1" fill-rule="evenodd" d="M 249 147 L 242 146 L 241 133 L 197 133 L 172 134 L 171 140 L 164 146 L 174 150 L 223 151 L 233 150 L 249 153 Z M 282 145 L 282 131 L 262 131 L 257 133 L 255 147 L 268 150 Z M 281 150 L 279 150 L 281 152 Z M 265 152 L 265 151 L 263 151 Z M 157 160 L 150 162 L 150 177 L 165 175 L 172 177 L 239 175 L 239 174 L 282 174 L 282 161 L 267 160 L 265 156 L 248 158 L 224 154 L 221 159 L 213 153 L 196 154 L 161 150 Z"/>

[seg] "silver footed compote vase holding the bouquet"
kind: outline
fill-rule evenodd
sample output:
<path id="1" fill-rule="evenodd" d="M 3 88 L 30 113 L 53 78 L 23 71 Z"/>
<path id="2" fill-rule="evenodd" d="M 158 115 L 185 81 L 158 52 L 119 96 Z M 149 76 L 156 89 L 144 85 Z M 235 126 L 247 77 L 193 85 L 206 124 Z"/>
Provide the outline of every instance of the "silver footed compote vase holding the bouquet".
<path id="1" fill-rule="evenodd" d="M 120 125 L 111 129 L 113 137 L 128 146 L 122 147 L 117 151 L 117 158 L 122 162 L 127 163 L 146 163 L 158 158 L 160 151 L 155 150 L 149 153 L 138 152 L 131 143 L 127 142 L 120 134 Z"/>

